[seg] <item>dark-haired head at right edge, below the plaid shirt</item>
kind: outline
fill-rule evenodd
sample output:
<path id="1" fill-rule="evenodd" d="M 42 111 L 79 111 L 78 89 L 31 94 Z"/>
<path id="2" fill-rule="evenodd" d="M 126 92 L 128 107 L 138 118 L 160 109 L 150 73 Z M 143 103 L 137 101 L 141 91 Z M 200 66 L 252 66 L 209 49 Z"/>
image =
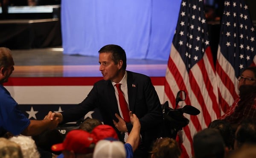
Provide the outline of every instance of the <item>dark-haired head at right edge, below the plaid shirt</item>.
<path id="1" fill-rule="evenodd" d="M 256 144 L 256 124 L 253 122 L 243 122 L 236 129 L 234 149 L 247 144 Z"/>

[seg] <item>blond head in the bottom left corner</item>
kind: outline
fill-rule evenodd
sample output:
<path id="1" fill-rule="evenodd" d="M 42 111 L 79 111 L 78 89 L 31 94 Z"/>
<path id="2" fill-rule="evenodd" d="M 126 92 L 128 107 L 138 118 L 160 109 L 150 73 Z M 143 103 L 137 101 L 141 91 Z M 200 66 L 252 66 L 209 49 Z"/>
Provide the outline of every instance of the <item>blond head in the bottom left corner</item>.
<path id="1" fill-rule="evenodd" d="M 0 158 L 23 158 L 20 145 L 6 138 L 0 138 Z"/>

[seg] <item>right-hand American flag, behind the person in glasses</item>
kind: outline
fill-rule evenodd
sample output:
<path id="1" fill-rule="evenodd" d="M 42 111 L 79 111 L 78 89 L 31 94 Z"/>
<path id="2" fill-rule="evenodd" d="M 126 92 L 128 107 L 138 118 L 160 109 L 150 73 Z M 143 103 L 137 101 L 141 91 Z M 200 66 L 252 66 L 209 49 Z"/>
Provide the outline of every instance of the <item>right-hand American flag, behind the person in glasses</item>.
<path id="1" fill-rule="evenodd" d="M 244 0 L 224 1 L 216 61 L 219 103 L 222 114 L 238 98 L 237 78 L 248 66 L 255 66 L 255 29 Z"/>

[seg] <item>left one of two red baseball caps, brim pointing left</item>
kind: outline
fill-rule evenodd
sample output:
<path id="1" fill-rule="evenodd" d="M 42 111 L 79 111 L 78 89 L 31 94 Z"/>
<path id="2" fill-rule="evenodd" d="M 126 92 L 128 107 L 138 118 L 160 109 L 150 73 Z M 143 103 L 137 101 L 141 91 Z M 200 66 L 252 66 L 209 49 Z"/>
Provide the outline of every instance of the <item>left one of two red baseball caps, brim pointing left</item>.
<path id="1" fill-rule="evenodd" d="M 87 154 L 93 152 L 93 137 L 89 132 L 74 129 L 67 133 L 63 143 L 52 146 L 52 151 L 74 151 L 75 153 Z"/>

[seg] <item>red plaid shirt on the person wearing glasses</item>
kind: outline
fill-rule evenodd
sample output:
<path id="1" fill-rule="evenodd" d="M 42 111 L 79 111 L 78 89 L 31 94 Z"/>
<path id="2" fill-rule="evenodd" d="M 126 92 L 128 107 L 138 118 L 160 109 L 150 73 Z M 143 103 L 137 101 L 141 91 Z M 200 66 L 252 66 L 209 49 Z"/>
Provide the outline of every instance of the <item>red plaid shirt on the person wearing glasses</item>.
<path id="1" fill-rule="evenodd" d="M 244 103 L 247 105 L 244 105 Z M 218 119 L 238 124 L 245 120 L 256 120 L 256 98 L 253 103 L 250 103 L 250 101 L 249 103 L 244 101 L 244 103 L 241 103 L 240 98 L 236 99 L 229 111 Z"/>

